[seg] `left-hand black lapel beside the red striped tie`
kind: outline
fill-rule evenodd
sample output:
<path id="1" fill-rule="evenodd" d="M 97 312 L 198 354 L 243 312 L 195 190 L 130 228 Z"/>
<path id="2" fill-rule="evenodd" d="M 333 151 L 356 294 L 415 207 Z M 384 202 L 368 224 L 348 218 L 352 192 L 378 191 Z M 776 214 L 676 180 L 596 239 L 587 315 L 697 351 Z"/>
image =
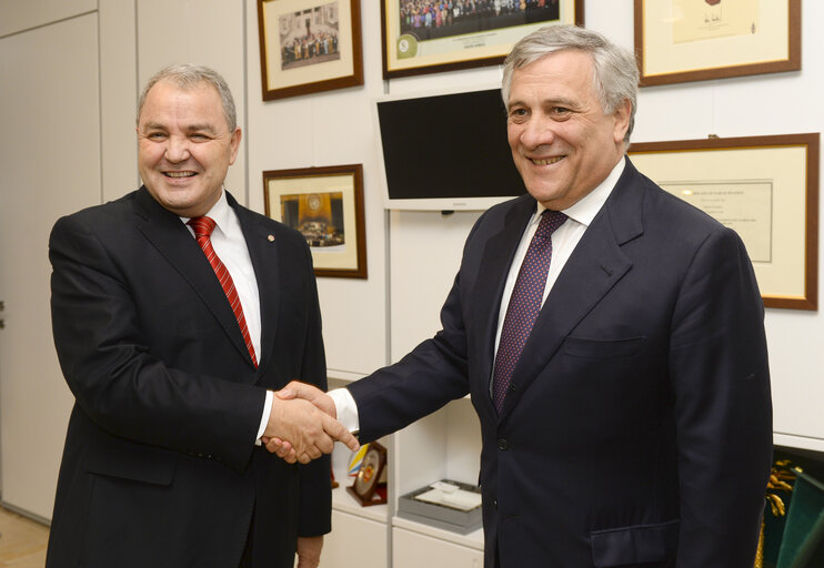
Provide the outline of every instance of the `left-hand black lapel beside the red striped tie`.
<path id="1" fill-rule="evenodd" d="M 234 313 L 198 242 L 181 223 L 180 217 L 163 209 L 145 187 L 138 192 L 137 204 L 139 230 L 194 290 L 218 320 L 223 333 L 252 365 Z"/>

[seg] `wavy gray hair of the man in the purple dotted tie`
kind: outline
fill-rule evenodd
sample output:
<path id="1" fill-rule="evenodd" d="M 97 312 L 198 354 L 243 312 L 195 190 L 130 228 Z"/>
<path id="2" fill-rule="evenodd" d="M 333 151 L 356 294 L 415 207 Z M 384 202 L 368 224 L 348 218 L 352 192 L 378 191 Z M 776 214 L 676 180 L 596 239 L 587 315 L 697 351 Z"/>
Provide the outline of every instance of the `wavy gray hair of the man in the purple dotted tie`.
<path id="1" fill-rule="evenodd" d="M 592 58 L 593 88 L 604 114 L 612 114 L 620 104 L 630 101 L 630 126 L 624 135 L 624 145 L 629 148 L 637 109 L 639 68 L 635 55 L 592 30 L 575 26 L 547 26 L 515 43 L 503 62 L 501 94 L 504 105 L 509 109 L 512 75 L 516 69 L 564 50 L 582 51 Z"/>

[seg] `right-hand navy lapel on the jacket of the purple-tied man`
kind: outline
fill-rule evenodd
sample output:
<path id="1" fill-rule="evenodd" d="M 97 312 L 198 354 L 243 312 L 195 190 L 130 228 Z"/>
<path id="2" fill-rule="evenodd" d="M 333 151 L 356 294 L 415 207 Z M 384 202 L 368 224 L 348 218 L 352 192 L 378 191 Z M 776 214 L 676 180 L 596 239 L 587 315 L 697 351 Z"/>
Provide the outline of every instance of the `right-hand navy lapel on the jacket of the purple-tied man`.
<path id="1" fill-rule="evenodd" d="M 524 345 L 500 418 L 546 367 L 577 323 L 632 267 L 621 245 L 643 233 L 641 178 L 629 159 L 624 173 L 564 265 Z"/>

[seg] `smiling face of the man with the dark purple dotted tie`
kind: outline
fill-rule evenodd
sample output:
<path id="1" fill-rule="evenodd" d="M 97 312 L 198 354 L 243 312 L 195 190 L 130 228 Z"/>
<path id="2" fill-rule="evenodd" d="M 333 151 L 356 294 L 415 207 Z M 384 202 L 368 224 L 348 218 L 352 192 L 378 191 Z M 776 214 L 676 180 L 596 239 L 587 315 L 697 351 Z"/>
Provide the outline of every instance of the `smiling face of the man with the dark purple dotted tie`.
<path id="1" fill-rule="evenodd" d="M 592 58 L 574 50 L 544 55 L 512 74 L 508 138 L 526 191 L 564 210 L 606 179 L 624 153 L 630 103 L 604 114 Z"/>

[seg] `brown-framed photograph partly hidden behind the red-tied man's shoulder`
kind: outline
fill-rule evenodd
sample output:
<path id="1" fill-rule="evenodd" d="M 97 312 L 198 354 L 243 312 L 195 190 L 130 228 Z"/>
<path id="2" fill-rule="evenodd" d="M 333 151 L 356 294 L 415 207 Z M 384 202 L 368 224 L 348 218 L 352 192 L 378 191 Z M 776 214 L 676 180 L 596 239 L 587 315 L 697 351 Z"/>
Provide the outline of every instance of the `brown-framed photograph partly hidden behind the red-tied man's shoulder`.
<path id="1" fill-rule="evenodd" d="M 366 277 L 363 166 L 263 172 L 267 215 L 299 231 L 315 276 Z"/>

